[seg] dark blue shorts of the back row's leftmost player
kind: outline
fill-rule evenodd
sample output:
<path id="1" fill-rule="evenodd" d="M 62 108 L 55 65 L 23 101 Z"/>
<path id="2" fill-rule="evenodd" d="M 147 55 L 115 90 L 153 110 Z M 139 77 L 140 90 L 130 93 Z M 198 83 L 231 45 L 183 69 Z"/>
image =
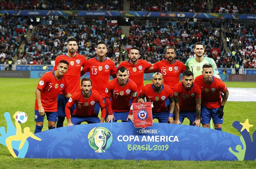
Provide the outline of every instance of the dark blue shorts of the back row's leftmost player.
<path id="1" fill-rule="evenodd" d="M 66 117 L 65 114 L 65 107 L 68 102 L 69 98 L 64 97 L 63 95 L 59 94 L 57 103 L 58 103 L 58 116 Z M 73 111 L 75 110 L 75 104 L 70 108 L 70 114 L 73 114 Z"/>

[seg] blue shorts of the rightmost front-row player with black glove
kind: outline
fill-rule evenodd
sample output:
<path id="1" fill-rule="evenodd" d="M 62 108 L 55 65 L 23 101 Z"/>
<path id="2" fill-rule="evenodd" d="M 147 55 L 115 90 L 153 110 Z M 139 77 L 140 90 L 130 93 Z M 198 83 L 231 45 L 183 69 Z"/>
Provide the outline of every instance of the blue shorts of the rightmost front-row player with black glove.
<path id="1" fill-rule="evenodd" d="M 201 107 L 201 123 L 209 124 L 212 118 L 214 124 L 222 124 L 223 118 L 219 118 L 219 113 L 216 113 L 219 108 L 210 109 L 206 106 Z"/>

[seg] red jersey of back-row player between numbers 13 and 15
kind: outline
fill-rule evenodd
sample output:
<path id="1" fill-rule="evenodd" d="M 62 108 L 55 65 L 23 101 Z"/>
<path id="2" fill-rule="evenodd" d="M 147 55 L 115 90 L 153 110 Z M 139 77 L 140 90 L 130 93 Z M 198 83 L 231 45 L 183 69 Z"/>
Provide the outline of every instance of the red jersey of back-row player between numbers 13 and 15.
<path id="1" fill-rule="evenodd" d="M 139 62 L 136 65 L 131 65 L 130 61 L 121 62 L 120 65 L 118 65 L 117 69 L 121 66 L 125 67 L 129 74 L 129 79 L 134 81 L 138 87 L 138 95 L 144 87 L 144 71 L 147 68 L 150 68 L 152 66 L 151 63 L 148 63 L 146 60 L 138 60 Z M 116 69 L 116 70 L 117 70 Z"/>

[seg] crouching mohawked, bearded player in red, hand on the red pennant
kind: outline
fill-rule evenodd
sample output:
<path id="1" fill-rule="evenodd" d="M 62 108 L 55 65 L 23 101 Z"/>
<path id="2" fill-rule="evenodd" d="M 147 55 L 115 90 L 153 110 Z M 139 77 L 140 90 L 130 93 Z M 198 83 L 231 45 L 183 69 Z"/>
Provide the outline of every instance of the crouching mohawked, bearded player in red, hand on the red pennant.
<path id="1" fill-rule="evenodd" d="M 147 84 L 142 88 L 138 97 L 138 102 L 144 103 L 143 98 L 147 101 L 153 102 L 152 115 L 153 119 L 158 119 L 159 123 L 173 123 L 173 90 L 168 86 L 162 84 L 164 82 L 163 75 L 159 72 L 153 74 L 153 84 Z M 170 100 L 170 109 L 168 110 L 165 101 Z"/>

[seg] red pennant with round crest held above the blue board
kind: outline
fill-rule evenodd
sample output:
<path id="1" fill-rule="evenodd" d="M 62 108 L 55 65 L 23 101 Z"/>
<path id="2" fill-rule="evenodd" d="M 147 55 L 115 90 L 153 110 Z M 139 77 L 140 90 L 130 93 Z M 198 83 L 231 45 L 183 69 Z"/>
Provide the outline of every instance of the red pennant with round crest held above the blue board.
<path id="1" fill-rule="evenodd" d="M 134 127 L 146 128 L 153 125 L 151 102 L 133 103 Z"/>

